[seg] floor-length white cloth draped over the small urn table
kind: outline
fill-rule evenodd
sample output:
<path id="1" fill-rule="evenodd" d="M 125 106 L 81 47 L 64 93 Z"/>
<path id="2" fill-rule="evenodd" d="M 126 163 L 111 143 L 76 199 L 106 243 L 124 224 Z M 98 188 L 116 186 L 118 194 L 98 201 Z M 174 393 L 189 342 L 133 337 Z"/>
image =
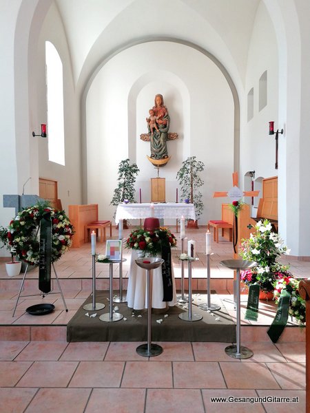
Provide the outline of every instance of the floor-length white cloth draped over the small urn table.
<path id="1" fill-rule="evenodd" d="M 130 260 L 130 273 L 127 286 L 127 305 L 134 310 L 143 310 L 147 308 L 147 271 L 137 266 L 135 260 L 140 258 L 140 251 L 132 250 Z M 147 260 L 147 258 L 146 258 Z M 172 301 L 163 301 L 163 277 L 161 266 L 152 270 L 152 308 L 166 308 L 176 304 L 176 283 L 174 281 L 174 267 L 172 265 Z"/>

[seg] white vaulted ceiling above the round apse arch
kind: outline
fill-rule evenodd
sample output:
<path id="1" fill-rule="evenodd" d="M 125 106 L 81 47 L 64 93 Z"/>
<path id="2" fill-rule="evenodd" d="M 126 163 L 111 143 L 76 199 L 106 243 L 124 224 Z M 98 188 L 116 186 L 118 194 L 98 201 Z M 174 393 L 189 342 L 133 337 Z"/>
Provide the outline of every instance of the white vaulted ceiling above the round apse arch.
<path id="1" fill-rule="evenodd" d="M 55 1 L 81 90 L 96 67 L 122 47 L 159 36 L 207 50 L 229 68 L 236 83 L 243 83 L 261 0 Z"/>

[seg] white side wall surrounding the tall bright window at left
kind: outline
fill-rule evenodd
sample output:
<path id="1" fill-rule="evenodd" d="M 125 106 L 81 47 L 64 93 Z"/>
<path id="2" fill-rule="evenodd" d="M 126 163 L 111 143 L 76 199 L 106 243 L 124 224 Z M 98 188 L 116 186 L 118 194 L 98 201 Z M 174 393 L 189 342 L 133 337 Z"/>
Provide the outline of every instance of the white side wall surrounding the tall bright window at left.
<path id="1" fill-rule="evenodd" d="M 81 138 L 79 120 L 79 97 L 74 91 L 70 51 L 59 12 L 52 4 L 43 22 L 39 37 L 36 66 L 39 67 L 36 83 L 41 101 L 38 107 L 39 118 L 46 122 L 45 102 L 45 41 L 56 47 L 63 63 L 63 95 L 65 126 L 65 166 L 48 160 L 48 139 L 37 139 L 39 148 L 39 177 L 58 181 L 58 195 L 62 207 L 68 212 L 69 204 L 81 203 Z M 43 123 L 41 120 L 41 123 Z M 37 126 L 38 129 L 39 125 Z"/>

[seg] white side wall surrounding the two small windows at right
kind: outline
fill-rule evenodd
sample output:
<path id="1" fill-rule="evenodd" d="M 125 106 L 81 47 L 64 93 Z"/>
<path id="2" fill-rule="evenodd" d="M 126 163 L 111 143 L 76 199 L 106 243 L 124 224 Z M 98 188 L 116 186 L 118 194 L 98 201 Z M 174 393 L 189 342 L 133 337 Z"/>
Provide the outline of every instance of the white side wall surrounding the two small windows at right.
<path id="1" fill-rule="evenodd" d="M 267 71 L 267 105 L 259 111 L 259 80 L 265 71 Z M 254 88 L 254 116 L 247 121 L 247 94 L 252 87 Z M 274 136 L 269 136 L 269 120 L 275 121 L 276 128 L 280 127 L 278 125 L 278 52 L 273 24 L 262 3 L 258 7 L 251 36 L 245 95 L 242 101 L 245 104 L 242 105 L 240 178 L 245 176 L 247 171 L 253 170 L 256 171 L 256 177 L 277 176 L 275 139 Z"/>

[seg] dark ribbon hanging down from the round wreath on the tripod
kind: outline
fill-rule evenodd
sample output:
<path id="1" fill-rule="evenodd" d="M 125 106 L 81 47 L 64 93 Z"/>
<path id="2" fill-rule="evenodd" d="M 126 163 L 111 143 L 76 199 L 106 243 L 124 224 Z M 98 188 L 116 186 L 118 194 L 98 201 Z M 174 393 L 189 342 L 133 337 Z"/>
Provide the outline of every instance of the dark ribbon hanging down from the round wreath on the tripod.
<path id="1" fill-rule="evenodd" d="M 50 293 L 50 267 L 52 258 L 52 220 L 50 217 L 40 221 L 39 251 L 39 290 Z"/>

